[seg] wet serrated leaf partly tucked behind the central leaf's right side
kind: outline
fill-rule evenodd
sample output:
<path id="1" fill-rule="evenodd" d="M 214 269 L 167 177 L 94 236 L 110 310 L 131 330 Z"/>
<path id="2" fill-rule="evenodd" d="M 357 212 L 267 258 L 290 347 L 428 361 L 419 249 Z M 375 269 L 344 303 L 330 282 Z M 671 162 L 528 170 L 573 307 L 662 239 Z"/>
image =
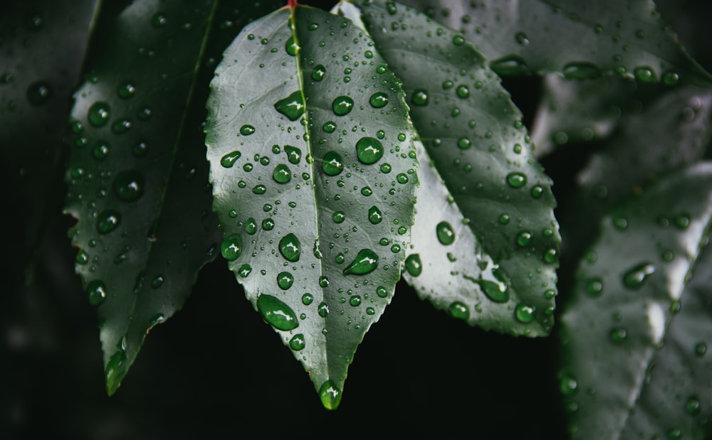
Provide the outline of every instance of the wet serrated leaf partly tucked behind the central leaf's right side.
<path id="1" fill-rule="evenodd" d="M 460 33 L 391 1 L 354 4 L 403 82 L 424 144 L 420 157 L 429 158 L 419 171 L 405 279 L 471 325 L 547 335 L 560 243 L 556 202 L 520 111 Z"/>

